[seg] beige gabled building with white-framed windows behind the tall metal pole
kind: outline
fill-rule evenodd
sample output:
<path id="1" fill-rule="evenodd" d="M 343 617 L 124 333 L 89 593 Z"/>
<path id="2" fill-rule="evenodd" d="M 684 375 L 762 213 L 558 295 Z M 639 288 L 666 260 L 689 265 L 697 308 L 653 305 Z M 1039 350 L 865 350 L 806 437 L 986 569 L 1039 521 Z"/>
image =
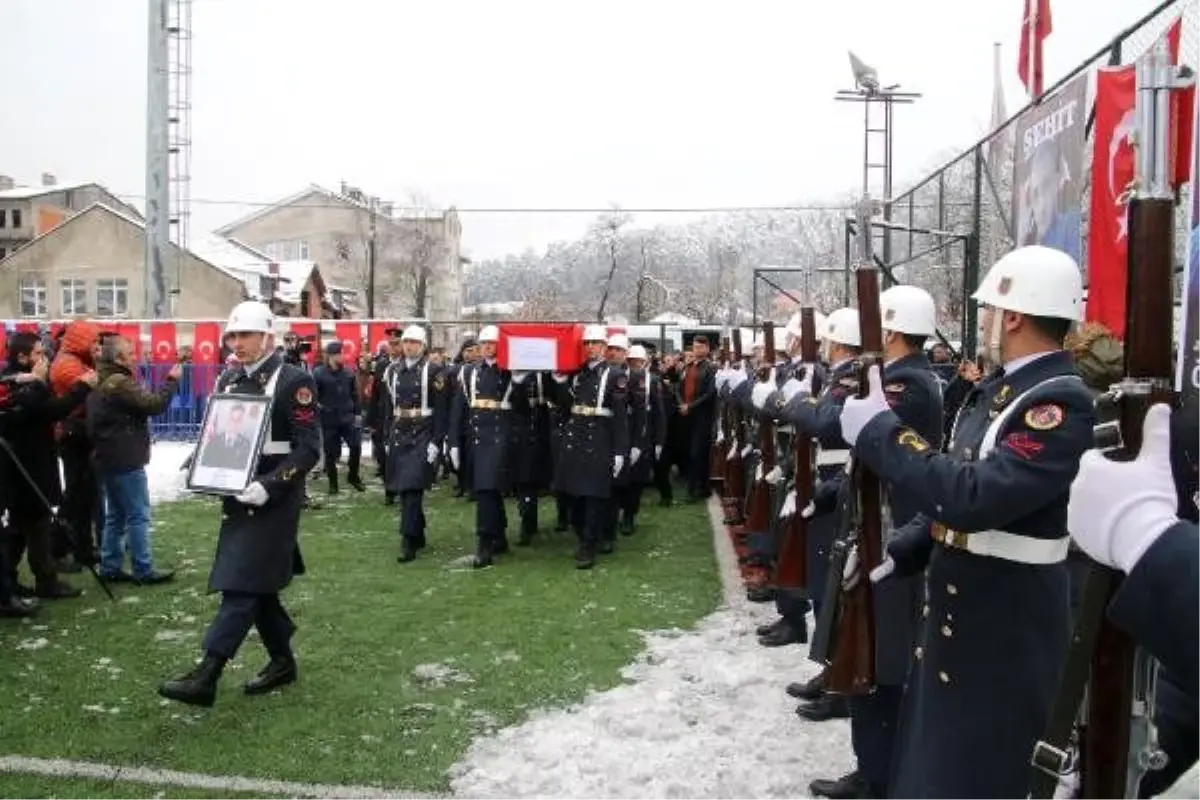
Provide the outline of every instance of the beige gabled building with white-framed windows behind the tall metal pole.
<path id="1" fill-rule="evenodd" d="M 145 224 L 96 203 L 0 261 L 0 318 L 144 319 Z M 170 243 L 172 315 L 221 319 L 248 296 L 242 279 Z"/>

